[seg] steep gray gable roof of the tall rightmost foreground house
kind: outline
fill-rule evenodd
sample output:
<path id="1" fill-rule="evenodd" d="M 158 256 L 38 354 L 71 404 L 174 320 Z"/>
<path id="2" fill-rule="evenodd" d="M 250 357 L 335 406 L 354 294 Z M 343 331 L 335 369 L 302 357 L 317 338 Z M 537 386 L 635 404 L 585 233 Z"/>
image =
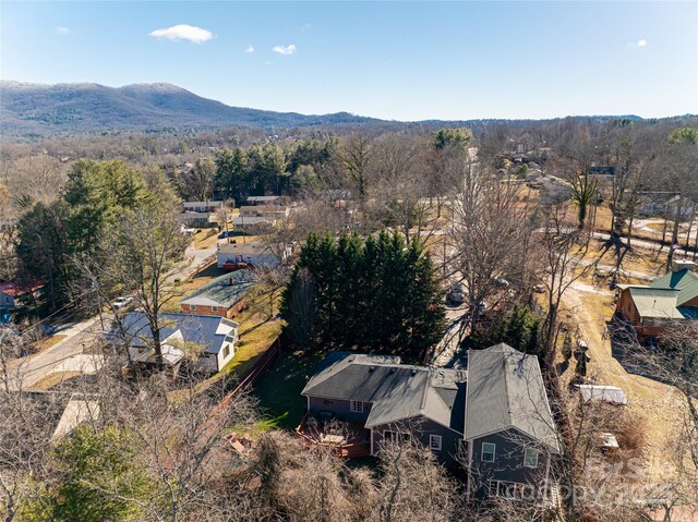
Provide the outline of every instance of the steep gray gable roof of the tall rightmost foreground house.
<path id="1" fill-rule="evenodd" d="M 559 452 L 538 359 L 504 343 L 470 351 L 466 439 L 510 428 Z"/>

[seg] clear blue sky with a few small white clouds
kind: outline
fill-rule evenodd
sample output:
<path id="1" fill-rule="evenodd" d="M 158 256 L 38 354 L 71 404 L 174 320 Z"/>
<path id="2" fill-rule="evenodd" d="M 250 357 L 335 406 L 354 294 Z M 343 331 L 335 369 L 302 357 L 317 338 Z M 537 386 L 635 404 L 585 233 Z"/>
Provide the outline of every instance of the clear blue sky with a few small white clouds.
<path id="1" fill-rule="evenodd" d="M 168 82 L 231 106 L 397 120 L 698 112 L 698 2 L 0 10 L 2 80 Z"/>

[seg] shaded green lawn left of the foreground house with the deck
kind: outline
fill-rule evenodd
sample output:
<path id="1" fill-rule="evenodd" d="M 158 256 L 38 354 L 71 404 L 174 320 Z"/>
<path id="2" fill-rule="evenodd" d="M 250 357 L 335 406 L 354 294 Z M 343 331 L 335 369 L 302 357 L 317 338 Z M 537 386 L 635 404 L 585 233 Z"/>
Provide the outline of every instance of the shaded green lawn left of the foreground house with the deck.
<path id="1" fill-rule="evenodd" d="M 306 404 L 301 391 L 321 361 L 300 351 L 281 352 L 272 369 L 254 385 L 253 394 L 260 400 L 263 417 L 262 429 L 296 429 Z"/>

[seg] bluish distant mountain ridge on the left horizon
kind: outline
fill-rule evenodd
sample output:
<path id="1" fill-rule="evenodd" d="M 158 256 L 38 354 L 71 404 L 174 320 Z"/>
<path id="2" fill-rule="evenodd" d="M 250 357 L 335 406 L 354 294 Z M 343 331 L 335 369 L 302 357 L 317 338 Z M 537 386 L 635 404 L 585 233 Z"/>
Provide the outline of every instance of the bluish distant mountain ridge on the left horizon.
<path id="1" fill-rule="evenodd" d="M 99 132 L 220 126 L 292 128 L 380 122 L 348 112 L 305 116 L 229 107 L 166 83 L 106 87 L 0 82 L 3 132 Z"/>

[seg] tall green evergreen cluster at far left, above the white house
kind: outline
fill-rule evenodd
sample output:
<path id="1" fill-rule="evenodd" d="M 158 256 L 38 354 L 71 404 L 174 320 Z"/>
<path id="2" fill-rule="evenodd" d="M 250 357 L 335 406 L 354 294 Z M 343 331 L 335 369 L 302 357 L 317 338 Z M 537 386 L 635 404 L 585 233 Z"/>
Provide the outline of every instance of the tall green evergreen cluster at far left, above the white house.
<path id="1" fill-rule="evenodd" d="M 98 259 L 98 246 L 112 244 L 124 216 L 143 208 L 171 206 L 173 193 L 160 171 L 143 172 L 123 161 L 80 160 L 68 173 L 51 203 L 37 202 L 17 222 L 16 255 L 20 274 L 43 280 L 52 308 L 89 291 L 84 289 L 81 264 Z"/>

